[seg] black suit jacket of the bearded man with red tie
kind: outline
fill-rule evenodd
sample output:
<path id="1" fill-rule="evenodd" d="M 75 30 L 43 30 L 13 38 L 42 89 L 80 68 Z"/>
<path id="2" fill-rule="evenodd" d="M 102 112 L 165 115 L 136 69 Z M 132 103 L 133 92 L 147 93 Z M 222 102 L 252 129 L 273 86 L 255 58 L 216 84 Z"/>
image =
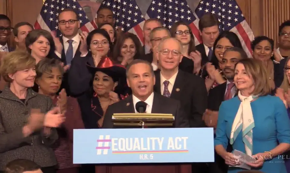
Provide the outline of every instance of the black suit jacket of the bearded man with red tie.
<path id="1" fill-rule="evenodd" d="M 218 111 L 221 102 L 224 101 L 224 94 L 227 89 L 227 82 L 224 82 L 214 88 L 211 88 L 208 92 L 208 109 Z"/>

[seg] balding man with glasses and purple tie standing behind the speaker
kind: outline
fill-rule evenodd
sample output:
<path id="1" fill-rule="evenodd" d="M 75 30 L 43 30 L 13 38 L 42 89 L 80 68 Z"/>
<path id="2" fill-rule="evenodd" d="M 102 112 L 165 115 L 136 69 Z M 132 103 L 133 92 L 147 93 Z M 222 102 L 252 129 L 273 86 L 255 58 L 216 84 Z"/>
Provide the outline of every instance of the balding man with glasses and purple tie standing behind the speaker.
<path id="1" fill-rule="evenodd" d="M 154 91 L 181 102 L 189 115 L 190 127 L 205 127 L 202 115 L 207 108 L 205 81 L 191 73 L 179 70 L 182 45 L 176 38 L 164 39 L 158 47 L 160 70 L 155 71 Z"/>

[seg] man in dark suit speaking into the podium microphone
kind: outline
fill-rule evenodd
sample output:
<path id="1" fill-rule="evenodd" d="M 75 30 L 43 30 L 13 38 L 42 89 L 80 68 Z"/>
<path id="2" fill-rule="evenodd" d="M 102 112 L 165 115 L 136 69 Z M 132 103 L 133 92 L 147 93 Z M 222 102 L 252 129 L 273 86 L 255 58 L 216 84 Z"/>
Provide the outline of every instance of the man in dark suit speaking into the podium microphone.
<path id="1" fill-rule="evenodd" d="M 155 75 L 149 62 L 133 60 L 127 66 L 127 84 L 133 94 L 108 107 L 103 128 L 114 128 L 114 113 L 138 113 L 135 106 L 139 101 L 146 103 L 146 113 L 172 114 L 175 117 L 174 127 L 189 127 L 188 115 L 182 110 L 179 101 L 153 92 Z"/>

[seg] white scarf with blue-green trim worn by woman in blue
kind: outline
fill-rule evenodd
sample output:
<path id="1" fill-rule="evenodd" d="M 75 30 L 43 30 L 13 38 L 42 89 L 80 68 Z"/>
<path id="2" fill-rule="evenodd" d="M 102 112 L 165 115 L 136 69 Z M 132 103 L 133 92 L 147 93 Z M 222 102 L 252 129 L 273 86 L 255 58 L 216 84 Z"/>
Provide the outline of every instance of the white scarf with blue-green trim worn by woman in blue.
<path id="1" fill-rule="evenodd" d="M 253 154 L 253 128 L 255 127 L 251 101 L 257 96 L 243 96 L 241 91 L 238 93 L 241 100 L 239 110 L 234 119 L 232 130 L 230 133 L 230 144 L 233 145 L 238 134 L 242 130 L 243 142 L 245 144 L 246 153 L 249 156 Z"/>

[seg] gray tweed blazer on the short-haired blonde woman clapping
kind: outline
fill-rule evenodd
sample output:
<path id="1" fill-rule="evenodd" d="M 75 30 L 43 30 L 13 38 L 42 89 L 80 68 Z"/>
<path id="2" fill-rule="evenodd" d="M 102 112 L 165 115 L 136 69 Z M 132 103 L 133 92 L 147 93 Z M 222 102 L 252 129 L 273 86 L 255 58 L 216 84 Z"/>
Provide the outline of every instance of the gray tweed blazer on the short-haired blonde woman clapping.
<path id="1" fill-rule="evenodd" d="M 0 94 L 0 171 L 14 159 L 28 159 L 41 167 L 56 165 L 52 144 L 58 138 L 52 128 L 51 135 L 45 137 L 42 131 L 23 137 L 22 127 L 27 123 L 30 110 L 38 108 L 46 113 L 52 107 L 52 100 L 32 89 L 27 90 L 25 101 L 21 101 L 12 91 L 5 87 Z"/>

